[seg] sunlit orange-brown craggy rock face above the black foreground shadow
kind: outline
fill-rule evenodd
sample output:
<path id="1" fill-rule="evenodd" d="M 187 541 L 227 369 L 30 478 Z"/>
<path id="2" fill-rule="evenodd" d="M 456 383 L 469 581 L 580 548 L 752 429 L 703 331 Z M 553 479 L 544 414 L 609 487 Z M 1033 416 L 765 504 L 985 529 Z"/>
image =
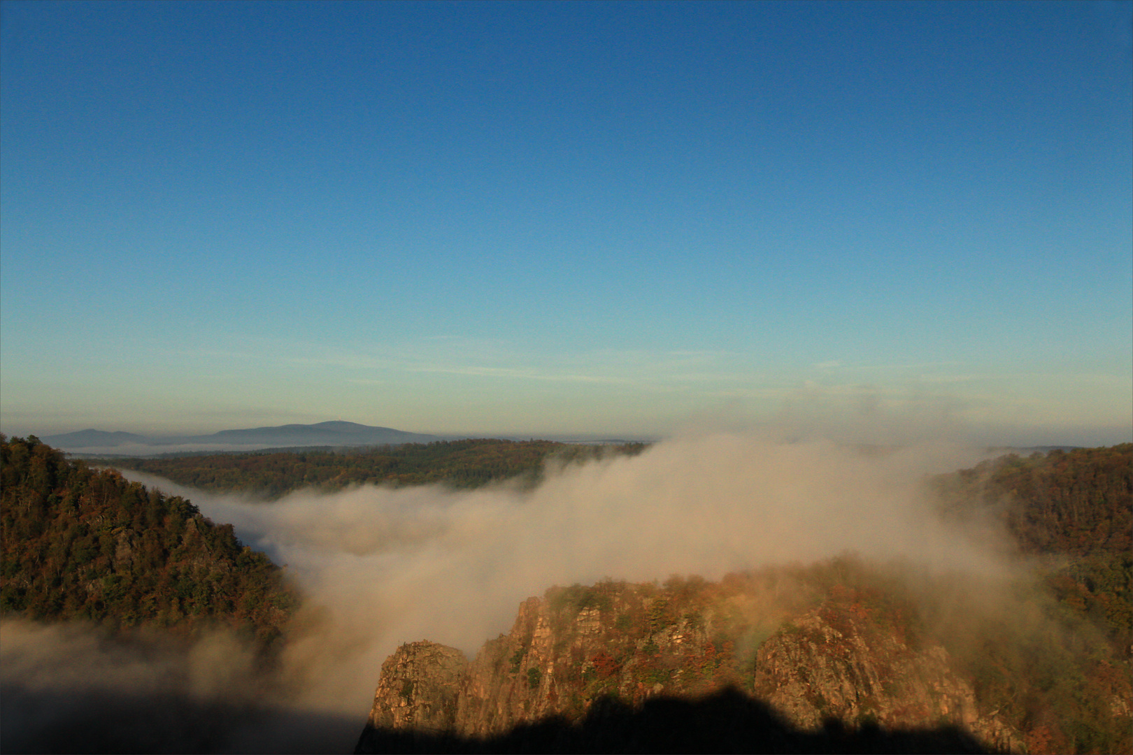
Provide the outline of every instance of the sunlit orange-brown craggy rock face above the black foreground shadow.
<path id="1" fill-rule="evenodd" d="M 751 584 L 552 589 L 521 603 L 511 630 L 471 661 L 435 643 L 402 645 L 382 666 L 357 752 L 381 752 L 391 732 L 467 745 L 593 722 L 603 705 L 641 711 L 725 693 L 766 704 L 780 736 L 947 727 L 1017 748 L 1013 731 L 980 715 L 947 652 L 911 640 L 894 616 L 829 599 L 784 616 L 765 599 Z"/>

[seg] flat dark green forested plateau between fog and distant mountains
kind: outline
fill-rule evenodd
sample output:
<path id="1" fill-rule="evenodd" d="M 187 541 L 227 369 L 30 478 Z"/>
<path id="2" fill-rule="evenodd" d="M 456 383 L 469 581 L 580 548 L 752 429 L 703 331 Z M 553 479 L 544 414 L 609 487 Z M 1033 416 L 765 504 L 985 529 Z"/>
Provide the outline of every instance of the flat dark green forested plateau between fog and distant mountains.
<path id="1" fill-rule="evenodd" d="M 478 488 L 519 478 L 535 483 L 548 463 L 573 463 L 607 454 L 633 455 L 645 444 L 591 446 L 552 440 L 438 440 L 378 448 L 269 451 L 172 458 L 116 458 L 104 463 L 148 472 L 213 492 L 248 492 L 269 500 L 293 490 L 324 492 L 353 484 L 393 487 L 443 483 Z"/>

